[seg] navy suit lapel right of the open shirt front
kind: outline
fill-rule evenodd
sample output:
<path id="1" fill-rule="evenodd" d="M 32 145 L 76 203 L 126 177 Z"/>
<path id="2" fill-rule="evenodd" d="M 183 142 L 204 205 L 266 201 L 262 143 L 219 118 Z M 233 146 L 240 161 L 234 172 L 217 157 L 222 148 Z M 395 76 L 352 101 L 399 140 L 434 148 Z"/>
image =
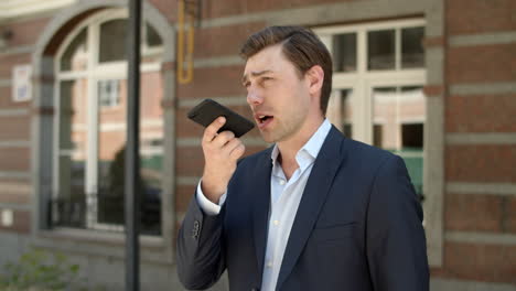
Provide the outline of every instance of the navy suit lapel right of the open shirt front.
<path id="1" fill-rule="evenodd" d="M 290 230 L 276 290 L 280 290 L 281 284 L 292 271 L 310 237 L 319 213 L 333 184 L 338 165 L 343 160 L 341 157 L 342 142 L 343 138 L 341 133 L 332 126 L 304 187 L 303 196 L 301 197 L 298 213 Z"/>

